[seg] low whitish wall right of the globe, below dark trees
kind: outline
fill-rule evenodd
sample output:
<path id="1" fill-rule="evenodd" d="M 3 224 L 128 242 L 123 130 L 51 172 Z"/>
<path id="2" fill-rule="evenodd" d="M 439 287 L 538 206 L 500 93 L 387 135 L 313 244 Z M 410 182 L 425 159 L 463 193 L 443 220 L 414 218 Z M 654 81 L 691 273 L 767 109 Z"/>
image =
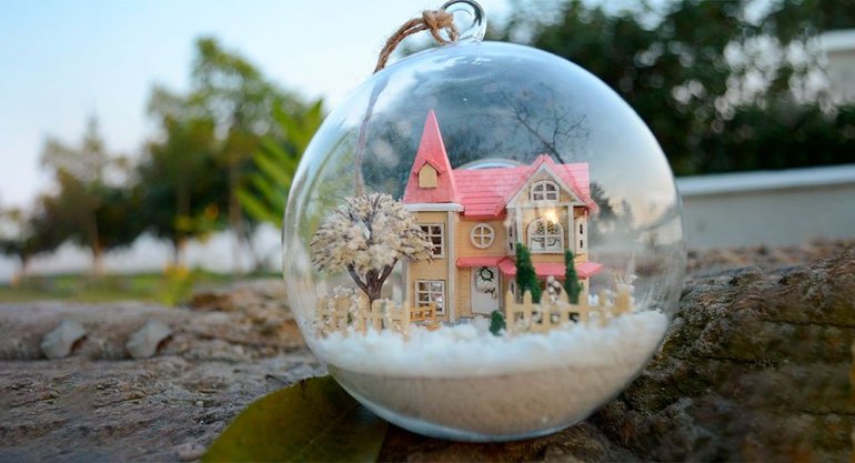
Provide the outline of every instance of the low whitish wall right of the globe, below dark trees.
<path id="1" fill-rule="evenodd" d="M 677 179 L 690 249 L 855 238 L 855 164 Z"/>

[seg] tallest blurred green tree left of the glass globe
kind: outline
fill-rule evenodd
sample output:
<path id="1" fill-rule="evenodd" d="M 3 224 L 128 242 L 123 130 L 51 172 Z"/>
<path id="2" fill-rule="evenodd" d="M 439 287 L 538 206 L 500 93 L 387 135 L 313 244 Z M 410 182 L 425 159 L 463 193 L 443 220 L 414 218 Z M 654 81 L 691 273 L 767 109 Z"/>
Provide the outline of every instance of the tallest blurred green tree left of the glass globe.
<path id="1" fill-rule="evenodd" d="M 262 139 L 268 140 L 268 147 L 288 143 L 274 108 L 279 114 L 308 111 L 299 97 L 270 82 L 255 66 L 224 50 L 213 38 L 201 38 L 195 43 L 187 94 L 154 89 L 149 111 L 159 120 L 162 134 L 149 147 L 149 159 L 142 162 L 149 167 L 143 168 L 141 178 L 147 178 L 142 175 L 147 172 L 148 178 L 169 172 L 167 181 L 172 185 L 161 185 L 165 191 L 149 198 L 150 204 L 163 198 L 174 201 L 171 212 L 161 211 L 161 225 L 155 227 L 155 232 L 172 241 L 175 262 L 181 261 L 184 240 L 222 223 L 219 211 L 224 210 L 225 222 L 235 236 L 233 270 L 243 271 L 241 258 L 247 251 L 253 252 L 250 240 L 259 219 L 244 213 L 245 201 L 241 202 L 239 191 L 250 191 L 250 179 L 259 173 L 260 163 L 252 159 L 262 148 Z M 199 198 L 194 201 L 193 195 Z M 193 204 L 201 207 L 201 212 Z M 253 255 L 253 260 L 258 266 L 260 258 Z"/>

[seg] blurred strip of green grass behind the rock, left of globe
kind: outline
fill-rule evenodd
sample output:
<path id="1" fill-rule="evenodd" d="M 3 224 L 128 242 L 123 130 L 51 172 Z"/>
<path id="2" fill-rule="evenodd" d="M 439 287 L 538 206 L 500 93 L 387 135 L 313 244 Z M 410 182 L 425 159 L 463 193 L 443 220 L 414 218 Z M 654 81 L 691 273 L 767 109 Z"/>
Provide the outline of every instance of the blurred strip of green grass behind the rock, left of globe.
<path id="1" fill-rule="evenodd" d="M 271 276 L 244 275 L 241 279 Z M 84 273 L 27 276 L 16 284 L 0 284 L 0 302 L 69 301 L 115 302 L 145 301 L 168 305 L 187 302 L 201 288 L 224 286 L 234 281 L 230 274 L 185 269 L 163 273 L 105 274 Z"/>

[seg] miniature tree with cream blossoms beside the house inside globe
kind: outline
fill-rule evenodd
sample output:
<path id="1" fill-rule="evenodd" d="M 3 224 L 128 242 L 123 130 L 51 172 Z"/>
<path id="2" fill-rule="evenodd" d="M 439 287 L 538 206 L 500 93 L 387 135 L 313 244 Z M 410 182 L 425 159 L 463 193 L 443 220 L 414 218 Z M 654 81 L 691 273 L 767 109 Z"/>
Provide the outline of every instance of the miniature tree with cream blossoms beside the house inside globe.
<path id="1" fill-rule="evenodd" d="M 346 270 L 369 303 L 402 258 L 431 259 L 433 243 L 401 201 L 370 193 L 344 200 L 312 238 L 312 263 L 319 271 Z"/>

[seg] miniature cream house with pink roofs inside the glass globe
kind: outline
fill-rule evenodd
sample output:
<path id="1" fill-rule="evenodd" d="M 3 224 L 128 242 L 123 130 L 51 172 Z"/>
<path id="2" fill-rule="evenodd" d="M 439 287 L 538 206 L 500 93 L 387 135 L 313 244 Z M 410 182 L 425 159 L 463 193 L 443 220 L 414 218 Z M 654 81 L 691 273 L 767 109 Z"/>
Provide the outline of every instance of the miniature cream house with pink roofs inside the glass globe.
<path id="1" fill-rule="evenodd" d="M 602 264 L 587 260 L 591 199 L 587 163 L 452 169 L 433 111 L 428 113 L 403 203 L 434 244 L 432 262 L 405 262 L 411 306 L 436 303 L 454 321 L 500 310 L 515 292 L 515 244 L 527 245 L 539 279 L 564 279 L 564 250 L 580 280 Z"/>

